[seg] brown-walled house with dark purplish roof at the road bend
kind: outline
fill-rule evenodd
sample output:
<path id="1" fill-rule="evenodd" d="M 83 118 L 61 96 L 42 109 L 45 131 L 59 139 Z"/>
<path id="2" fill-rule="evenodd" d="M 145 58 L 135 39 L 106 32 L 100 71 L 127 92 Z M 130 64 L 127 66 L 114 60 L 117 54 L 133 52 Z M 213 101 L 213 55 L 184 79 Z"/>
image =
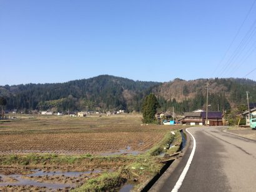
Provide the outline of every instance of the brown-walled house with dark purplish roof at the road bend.
<path id="1" fill-rule="evenodd" d="M 206 112 L 201 112 L 203 123 L 206 122 Z M 222 126 L 222 112 L 207 112 L 207 125 L 210 126 Z"/>

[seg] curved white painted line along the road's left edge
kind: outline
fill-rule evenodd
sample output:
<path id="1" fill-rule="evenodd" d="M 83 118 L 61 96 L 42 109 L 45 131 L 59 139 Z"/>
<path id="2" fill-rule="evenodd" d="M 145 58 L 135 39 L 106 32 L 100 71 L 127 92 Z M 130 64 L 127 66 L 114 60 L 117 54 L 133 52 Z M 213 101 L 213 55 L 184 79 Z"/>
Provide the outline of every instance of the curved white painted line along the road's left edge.
<path id="1" fill-rule="evenodd" d="M 192 162 L 192 160 L 193 160 L 193 157 L 194 157 L 194 155 L 195 155 L 195 147 L 196 147 L 195 138 L 194 138 L 194 136 L 188 131 L 188 129 L 189 129 L 189 128 L 187 128 L 186 131 L 192 136 L 194 145 L 193 145 L 191 154 L 190 154 L 190 156 L 189 156 L 189 160 L 187 161 L 187 164 L 186 164 L 184 170 L 182 171 L 182 173 L 181 173 L 181 175 L 180 175 L 180 177 L 179 177 L 179 180 L 177 181 L 177 183 L 175 184 L 174 188 L 172 189 L 172 192 L 177 192 L 177 191 L 179 191 L 179 188 L 180 188 L 180 186 L 182 185 L 182 183 L 183 183 L 183 181 L 184 181 L 184 178 L 185 178 L 185 176 L 186 176 L 186 174 L 187 174 L 187 171 L 189 171 L 189 166 L 190 166 L 190 164 L 191 164 L 191 162 Z"/>

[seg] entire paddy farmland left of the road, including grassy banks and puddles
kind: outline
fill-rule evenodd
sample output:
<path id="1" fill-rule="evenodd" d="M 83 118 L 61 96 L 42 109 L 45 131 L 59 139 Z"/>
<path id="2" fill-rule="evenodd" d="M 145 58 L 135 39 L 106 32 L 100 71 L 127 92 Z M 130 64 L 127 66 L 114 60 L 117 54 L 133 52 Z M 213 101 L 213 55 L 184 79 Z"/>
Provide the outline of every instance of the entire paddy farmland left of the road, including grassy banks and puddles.
<path id="1" fill-rule="evenodd" d="M 170 143 L 177 151 L 175 130 L 181 128 L 142 125 L 141 119 L 122 114 L 1 120 L 0 191 L 118 191 L 125 183 L 139 190 L 160 170 L 160 153 Z"/>

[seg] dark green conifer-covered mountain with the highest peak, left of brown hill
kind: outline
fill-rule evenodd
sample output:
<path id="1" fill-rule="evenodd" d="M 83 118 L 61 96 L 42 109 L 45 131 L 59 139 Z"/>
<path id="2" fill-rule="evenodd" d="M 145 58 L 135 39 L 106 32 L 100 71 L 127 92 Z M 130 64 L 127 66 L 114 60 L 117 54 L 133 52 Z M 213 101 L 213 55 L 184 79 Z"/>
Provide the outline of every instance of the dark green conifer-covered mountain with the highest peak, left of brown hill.
<path id="1" fill-rule="evenodd" d="M 140 103 L 157 82 L 142 82 L 99 75 L 62 84 L 5 85 L 0 95 L 6 108 L 56 110 L 140 110 Z M 49 105 L 51 103 L 51 105 Z"/>

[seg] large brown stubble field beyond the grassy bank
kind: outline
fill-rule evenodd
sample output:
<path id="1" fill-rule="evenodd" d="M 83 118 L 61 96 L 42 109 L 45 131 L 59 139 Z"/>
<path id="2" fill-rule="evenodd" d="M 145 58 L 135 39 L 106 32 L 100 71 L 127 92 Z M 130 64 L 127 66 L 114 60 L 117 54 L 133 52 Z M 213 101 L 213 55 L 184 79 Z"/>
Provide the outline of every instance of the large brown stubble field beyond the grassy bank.
<path id="1" fill-rule="evenodd" d="M 0 123 L 0 154 L 139 153 L 159 142 L 166 127 L 127 117 L 36 117 Z"/>

